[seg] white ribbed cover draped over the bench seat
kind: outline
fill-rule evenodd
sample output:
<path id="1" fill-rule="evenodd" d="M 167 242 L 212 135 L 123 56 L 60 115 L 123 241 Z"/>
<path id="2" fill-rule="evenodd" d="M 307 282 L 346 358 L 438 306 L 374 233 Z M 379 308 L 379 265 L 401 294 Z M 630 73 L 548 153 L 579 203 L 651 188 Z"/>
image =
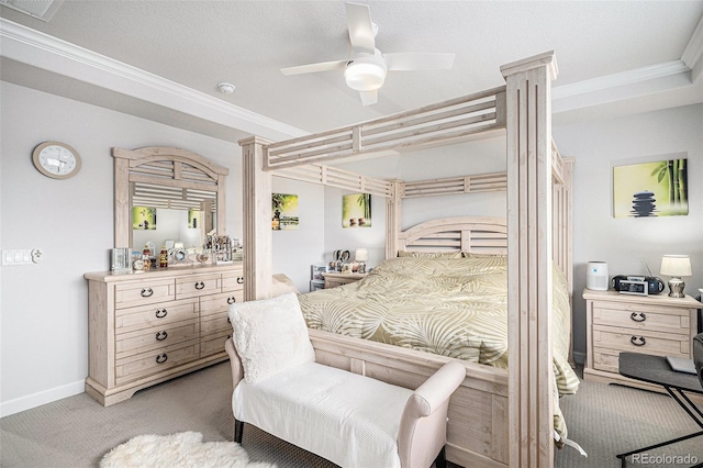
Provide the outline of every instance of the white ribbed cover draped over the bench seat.
<path id="1" fill-rule="evenodd" d="M 342 467 L 400 468 L 398 432 L 412 390 L 308 363 L 232 395 L 238 421 Z"/>

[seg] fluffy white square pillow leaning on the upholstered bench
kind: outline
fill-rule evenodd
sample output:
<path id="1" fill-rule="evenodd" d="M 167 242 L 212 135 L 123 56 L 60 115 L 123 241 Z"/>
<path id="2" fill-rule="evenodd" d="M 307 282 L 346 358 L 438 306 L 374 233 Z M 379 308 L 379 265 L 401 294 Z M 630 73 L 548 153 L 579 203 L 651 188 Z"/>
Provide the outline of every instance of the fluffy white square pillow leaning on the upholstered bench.
<path id="1" fill-rule="evenodd" d="M 230 305 L 232 339 L 244 380 L 255 383 L 304 363 L 314 363 L 308 326 L 293 292 Z"/>

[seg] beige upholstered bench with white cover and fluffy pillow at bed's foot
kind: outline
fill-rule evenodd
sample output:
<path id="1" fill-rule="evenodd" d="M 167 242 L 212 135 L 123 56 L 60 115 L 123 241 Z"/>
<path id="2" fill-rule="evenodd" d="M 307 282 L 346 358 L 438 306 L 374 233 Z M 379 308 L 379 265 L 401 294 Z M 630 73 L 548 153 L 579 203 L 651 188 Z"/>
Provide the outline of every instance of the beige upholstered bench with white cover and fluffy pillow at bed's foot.
<path id="1" fill-rule="evenodd" d="M 448 363 L 413 391 L 314 363 L 297 304 L 294 294 L 284 294 L 235 304 L 230 311 L 235 333 L 225 349 L 232 366 L 235 442 L 242 443 L 246 422 L 343 467 L 427 468 L 433 461 L 438 468 L 446 466 L 447 406 L 466 377 L 465 367 Z M 289 308 L 290 314 L 286 312 Z M 261 355 L 252 348 L 265 346 L 266 333 L 259 328 L 271 320 L 277 323 L 270 336 L 277 342 L 275 347 L 287 341 L 280 330 L 298 328 L 300 333 L 302 323 L 302 339 L 310 345 L 312 360 L 305 357 L 282 368 L 278 363 L 272 374 L 252 379 L 247 376 L 250 356 L 242 354 Z M 237 326 L 241 335 L 248 334 L 239 336 L 238 345 Z M 260 375 L 261 369 L 256 372 Z"/>

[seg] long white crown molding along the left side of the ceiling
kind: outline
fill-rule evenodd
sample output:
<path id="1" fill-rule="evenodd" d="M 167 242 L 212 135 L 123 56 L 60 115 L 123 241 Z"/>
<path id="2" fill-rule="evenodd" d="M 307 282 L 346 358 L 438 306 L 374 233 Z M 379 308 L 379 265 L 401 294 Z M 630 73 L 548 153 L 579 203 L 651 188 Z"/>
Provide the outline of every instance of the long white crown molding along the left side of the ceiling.
<path id="1" fill-rule="evenodd" d="M 279 141 L 309 134 L 2 18 L 0 55 L 269 140 Z"/>

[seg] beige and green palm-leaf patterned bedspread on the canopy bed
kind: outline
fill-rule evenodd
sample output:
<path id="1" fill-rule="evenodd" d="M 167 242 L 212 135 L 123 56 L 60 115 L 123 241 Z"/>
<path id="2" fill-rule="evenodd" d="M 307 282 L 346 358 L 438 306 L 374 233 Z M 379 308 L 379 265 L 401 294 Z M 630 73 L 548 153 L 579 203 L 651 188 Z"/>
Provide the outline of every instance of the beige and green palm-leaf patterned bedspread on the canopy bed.
<path id="1" fill-rule="evenodd" d="M 308 326 L 507 367 L 505 257 L 450 257 L 458 255 L 391 258 L 360 281 L 301 294 Z M 566 436 L 558 395 L 574 393 L 579 379 L 568 363 L 571 310 L 558 268 L 553 282 L 555 428 Z"/>

